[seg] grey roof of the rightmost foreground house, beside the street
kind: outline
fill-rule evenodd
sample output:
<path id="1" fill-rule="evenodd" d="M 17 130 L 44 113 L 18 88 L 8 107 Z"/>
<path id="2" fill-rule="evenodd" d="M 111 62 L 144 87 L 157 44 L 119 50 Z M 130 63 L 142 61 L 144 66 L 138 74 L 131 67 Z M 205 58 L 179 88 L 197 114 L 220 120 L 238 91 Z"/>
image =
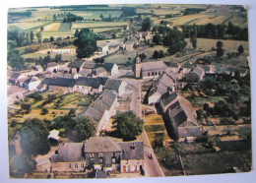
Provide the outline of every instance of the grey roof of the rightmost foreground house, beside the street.
<path id="1" fill-rule="evenodd" d="M 143 142 L 118 143 L 122 149 L 122 159 L 144 159 Z"/>

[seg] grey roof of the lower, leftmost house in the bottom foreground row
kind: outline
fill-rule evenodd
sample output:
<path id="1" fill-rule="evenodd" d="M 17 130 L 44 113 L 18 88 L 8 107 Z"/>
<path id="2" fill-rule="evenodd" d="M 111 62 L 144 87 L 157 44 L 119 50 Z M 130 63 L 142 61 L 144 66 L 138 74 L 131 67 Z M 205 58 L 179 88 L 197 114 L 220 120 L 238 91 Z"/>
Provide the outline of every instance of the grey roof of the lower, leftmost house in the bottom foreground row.
<path id="1" fill-rule="evenodd" d="M 51 156 L 52 162 L 74 162 L 84 161 L 83 154 L 83 143 L 65 143 L 60 145 L 58 154 Z"/>

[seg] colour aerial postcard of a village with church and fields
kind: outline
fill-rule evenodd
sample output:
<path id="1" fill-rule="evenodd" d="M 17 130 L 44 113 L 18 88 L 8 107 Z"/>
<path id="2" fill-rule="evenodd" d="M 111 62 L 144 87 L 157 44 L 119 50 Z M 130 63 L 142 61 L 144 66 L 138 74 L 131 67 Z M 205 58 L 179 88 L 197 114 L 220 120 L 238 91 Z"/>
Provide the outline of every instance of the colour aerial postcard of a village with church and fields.
<path id="1" fill-rule="evenodd" d="M 10 177 L 250 171 L 247 28 L 231 5 L 9 9 Z"/>

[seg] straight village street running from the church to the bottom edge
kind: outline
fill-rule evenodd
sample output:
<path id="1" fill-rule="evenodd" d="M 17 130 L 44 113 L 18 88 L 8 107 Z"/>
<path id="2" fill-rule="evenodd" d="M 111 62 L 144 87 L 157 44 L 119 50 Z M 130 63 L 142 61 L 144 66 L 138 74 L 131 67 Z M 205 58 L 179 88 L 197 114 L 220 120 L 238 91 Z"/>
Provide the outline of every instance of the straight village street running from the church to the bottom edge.
<path id="1" fill-rule="evenodd" d="M 137 116 L 142 118 L 142 103 L 141 103 L 141 83 L 140 80 L 125 79 L 124 80 L 129 86 L 132 87 L 132 101 L 130 110 L 133 110 Z M 144 158 L 145 158 L 145 176 L 147 177 L 162 177 L 164 176 L 160 163 L 151 147 L 150 141 L 144 130 L 141 136 L 137 140 L 144 143 Z M 152 154 L 150 158 L 149 155 Z"/>

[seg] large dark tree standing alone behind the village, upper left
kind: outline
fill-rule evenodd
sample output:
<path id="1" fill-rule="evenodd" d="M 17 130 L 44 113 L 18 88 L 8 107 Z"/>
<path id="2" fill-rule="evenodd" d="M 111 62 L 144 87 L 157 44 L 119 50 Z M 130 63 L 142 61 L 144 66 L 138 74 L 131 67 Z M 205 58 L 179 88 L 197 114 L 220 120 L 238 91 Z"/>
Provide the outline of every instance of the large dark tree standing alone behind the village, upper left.
<path id="1" fill-rule="evenodd" d="M 82 29 L 74 44 L 77 46 L 78 58 L 89 58 L 96 51 L 96 34 L 89 29 Z"/>

